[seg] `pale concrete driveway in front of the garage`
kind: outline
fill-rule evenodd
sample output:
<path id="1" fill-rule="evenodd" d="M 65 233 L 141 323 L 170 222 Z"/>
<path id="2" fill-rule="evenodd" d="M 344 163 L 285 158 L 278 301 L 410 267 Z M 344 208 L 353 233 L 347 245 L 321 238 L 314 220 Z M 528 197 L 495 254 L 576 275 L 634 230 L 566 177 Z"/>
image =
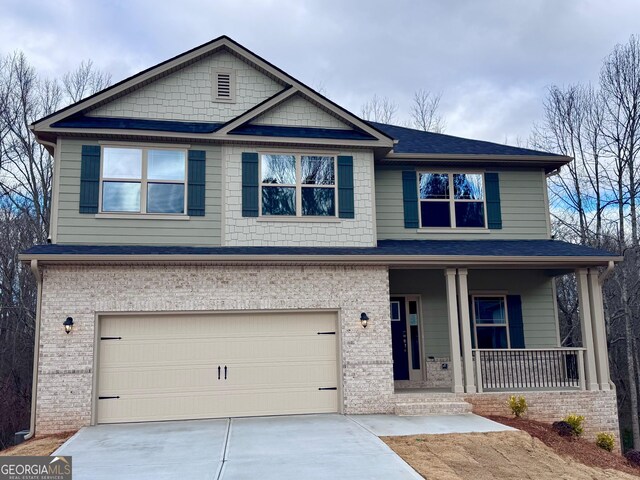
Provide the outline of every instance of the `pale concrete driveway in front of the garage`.
<path id="1" fill-rule="evenodd" d="M 472 417 L 481 418 L 466 420 Z M 399 425 L 405 425 L 402 431 L 430 433 L 424 430 L 441 423 L 408 418 L 419 417 L 298 415 L 99 425 L 80 430 L 55 455 L 73 456 L 75 480 L 420 479 L 376 436 Z"/>

